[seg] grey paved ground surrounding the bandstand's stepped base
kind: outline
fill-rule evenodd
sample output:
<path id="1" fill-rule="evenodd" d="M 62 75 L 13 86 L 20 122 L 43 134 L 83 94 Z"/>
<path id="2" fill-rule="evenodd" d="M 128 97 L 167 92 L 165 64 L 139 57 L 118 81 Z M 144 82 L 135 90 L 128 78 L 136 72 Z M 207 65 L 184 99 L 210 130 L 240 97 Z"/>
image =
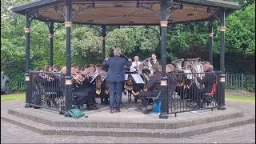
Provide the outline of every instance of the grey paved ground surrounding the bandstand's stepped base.
<path id="1" fill-rule="evenodd" d="M 1 102 L 1 111 L 5 106 L 17 103 L 23 106 L 24 101 Z M 226 107 L 235 107 L 245 111 L 245 116 L 255 117 L 255 103 L 226 102 Z M 189 138 L 121 138 L 95 136 L 46 136 L 1 121 L 1 143 L 255 143 L 255 124 L 237 126 L 200 134 Z"/>

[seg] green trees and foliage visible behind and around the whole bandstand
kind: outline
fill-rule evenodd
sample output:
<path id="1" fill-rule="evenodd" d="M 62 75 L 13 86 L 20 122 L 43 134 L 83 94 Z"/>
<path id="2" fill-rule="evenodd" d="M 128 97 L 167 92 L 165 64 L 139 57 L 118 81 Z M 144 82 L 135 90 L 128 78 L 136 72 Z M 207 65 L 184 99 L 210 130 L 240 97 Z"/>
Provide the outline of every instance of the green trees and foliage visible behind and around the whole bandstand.
<path id="1" fill-rule="evenodd" d="M 1 1 L 1 70 L 13 80 L 13 89 L 24 90 L 20 86 L 25 74 L 25 17 L 10 12 L 11 6 L 30 0 Z M 226 52 L 239 52 L 245 56 L 255 54 L 255 1 L 243 0 L 242 10 L 237 10 L 226 18 Z M 56 28 L 58 24 L 54 24 Z M 79 66 L 102 62 L 101 27 L 72 26 L 72 63 Z M 98 30 L 97 30 L 98 29 Z M 219 26 L 214 22 L 214 53 L 219 53 Z M 132 58 L 138 55 L 142 60 L 156 53 L 160 56 L 159 26 L 107 26 L 106 56 L 118 46 Z M 167 28 L 167 62 L 189 53 L 194 47 L 207 50 L 208 22 L 196 22 Z M 33 21 L 30 33 L 31 70 L 50 62 L 49 30 L 45 23 Z M 66 29 L 59 28 L 54 33 L 54 63 L 66 65 Z"/>

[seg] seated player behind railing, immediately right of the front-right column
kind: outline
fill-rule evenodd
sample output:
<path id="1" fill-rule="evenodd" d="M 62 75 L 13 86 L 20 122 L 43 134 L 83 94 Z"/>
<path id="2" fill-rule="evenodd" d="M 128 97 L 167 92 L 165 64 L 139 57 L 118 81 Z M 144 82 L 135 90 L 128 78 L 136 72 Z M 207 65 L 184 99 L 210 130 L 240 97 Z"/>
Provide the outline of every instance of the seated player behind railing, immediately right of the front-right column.
<path id="1" fill-rule="evenodd" d="M 169 96 L 172 96 L 174 94 L 174 90 L 176 89 L 177 86 L 177 78 L 176 75 L 173 74 L 174 73 L 174 65 L 172 64 L 168 64 L 166 65 L 166 75 L 168 78 L 168 94 Z"/>

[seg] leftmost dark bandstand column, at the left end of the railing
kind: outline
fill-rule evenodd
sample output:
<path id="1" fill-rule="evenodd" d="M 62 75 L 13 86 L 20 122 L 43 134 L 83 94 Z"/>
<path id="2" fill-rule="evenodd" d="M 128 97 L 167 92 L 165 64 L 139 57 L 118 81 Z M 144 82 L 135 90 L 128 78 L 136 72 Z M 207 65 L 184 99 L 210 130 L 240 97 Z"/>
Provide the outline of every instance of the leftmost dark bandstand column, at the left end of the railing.
<path id="1" fill-rule="evenodd" d="M 30 107 L 30 14 L 26 13 L 26 103 L 25 108 Z"/>

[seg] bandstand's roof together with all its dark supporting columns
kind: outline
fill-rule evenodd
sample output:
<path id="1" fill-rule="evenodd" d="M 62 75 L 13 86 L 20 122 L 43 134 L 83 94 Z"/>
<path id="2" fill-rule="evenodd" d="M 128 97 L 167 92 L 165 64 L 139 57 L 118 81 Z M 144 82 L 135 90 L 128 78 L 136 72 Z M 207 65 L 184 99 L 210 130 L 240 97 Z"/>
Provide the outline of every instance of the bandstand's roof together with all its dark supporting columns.
<path id="1" fill-rule="evenodd" d="M 15 6 L 14 13 L 26 16 L 26 107 L 31 104 L 30 77 L 30 23 L 36 19 L 49 26 L 50 65 L 54 57 L 54 23 L 66 26 L 66 75 L 63 90 L 67 115 L 71 109 L 71 27 L 83 24 L 102 27 L 102 58 L 105 59 L 106 26 L 161 26 L 161 113 L 159 118 L 168 118 L 166 78 L 166 27 L 172 24 L 209 22 L 209 61 L 213 63 L 213 22 L 218 21 L 220 30 L 220 67 L 218 81 L 218 109 L 225 109 L 225 16 L 238 10 L 238 2 L 224 0 L 38 0 Z M 58 28 L 58 27 L 57 27 Z M 55 29 L 57 29 L 55 27 Z"/>

